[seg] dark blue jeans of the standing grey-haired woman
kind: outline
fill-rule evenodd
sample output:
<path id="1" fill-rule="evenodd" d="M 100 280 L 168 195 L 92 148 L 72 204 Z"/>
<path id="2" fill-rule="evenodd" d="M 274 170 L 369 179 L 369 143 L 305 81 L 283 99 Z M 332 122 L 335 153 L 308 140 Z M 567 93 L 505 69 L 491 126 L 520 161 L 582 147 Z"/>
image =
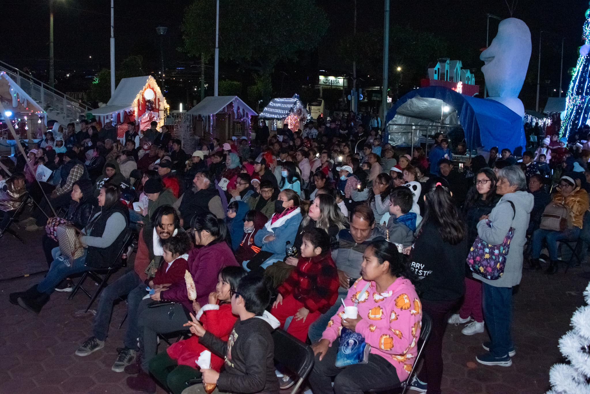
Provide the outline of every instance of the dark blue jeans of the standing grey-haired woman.
<path id="1" fill-rule="evenodd" d="M 514 349 L 512 342 L 512 287 L 483 284 L 483 314 L 490 334 L 490 353 L 505 357 Z"/>

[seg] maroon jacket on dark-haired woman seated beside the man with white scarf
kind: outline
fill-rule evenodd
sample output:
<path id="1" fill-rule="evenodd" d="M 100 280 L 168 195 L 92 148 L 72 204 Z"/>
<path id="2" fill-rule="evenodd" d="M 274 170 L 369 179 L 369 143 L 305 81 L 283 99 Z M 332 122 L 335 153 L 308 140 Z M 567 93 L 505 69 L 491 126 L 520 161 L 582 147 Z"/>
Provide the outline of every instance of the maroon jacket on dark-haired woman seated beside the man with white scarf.
<path id="1" fill-rule="evenodd" d="M 228 265 L 240 266 L 226 242 L 191 250 L 188 255 L 188 270 L 195 281 L 196 301 L 199 304 L 208 303 L 209 293 L 215 291 L 219 271 Z M 168 290 L 162 291 L 160 298 L 166 301 L 178 301 L 192 311 L 192 302 L 188 299 L 184 281 L 172 284 Z"/>

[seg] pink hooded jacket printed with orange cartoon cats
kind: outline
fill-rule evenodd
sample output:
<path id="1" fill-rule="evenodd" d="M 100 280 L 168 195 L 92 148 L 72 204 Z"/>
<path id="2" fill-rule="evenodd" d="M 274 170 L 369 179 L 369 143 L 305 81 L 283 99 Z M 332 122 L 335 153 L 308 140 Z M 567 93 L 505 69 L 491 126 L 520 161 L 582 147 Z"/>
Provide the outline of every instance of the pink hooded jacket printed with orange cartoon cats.
<path id="1" fill-rule="evenodd" d="M 403 382 L 408 378 L 418 353 L 422 304 L 414 285 L 406 278 L 397 278 L 381 294 L 375 291 L 375 282 L 371 282 L 365 297 L 359 297 L 366 283 L 359 278 L 348 291 L 344 303 L 353 306 L 353 300 L 359 300 L 357 306 L 362 320 L 356 324 L 355 331 L 371 345 L 371 353 L 383 357 L 395 367 L 399 381 Z M 344 308 L 340 306 L 323 333 L 322 339 L 329 340 L 330 344 L 340 335 L 343 313 Z"/>

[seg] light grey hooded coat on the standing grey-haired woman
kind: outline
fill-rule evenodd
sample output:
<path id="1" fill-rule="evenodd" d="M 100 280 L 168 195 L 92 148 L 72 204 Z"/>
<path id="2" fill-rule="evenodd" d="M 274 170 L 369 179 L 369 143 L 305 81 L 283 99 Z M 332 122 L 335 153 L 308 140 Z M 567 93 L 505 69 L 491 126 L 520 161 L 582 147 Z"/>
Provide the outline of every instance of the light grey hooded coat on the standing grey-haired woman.
<path id="1" fill-rule="evenodd" d="M 488 219 L 493 226 L 490 228 L 485 220 L 478 222 L 477 234 L 488 244 L 500 245 L 510 227 L 514 229 L 514 237 L 510 241 L 504 274 L 497 280 L 487 280 L 479 275 L 473 275 L 474 278 L 495 287 L 513 287 L 520 283 L 526 229 L 529 226 L 534 200 L 533 195 L 527 192 L 507 193 L 490 212 Z M 508 201 L 512 201 L 514 209 Z"/>

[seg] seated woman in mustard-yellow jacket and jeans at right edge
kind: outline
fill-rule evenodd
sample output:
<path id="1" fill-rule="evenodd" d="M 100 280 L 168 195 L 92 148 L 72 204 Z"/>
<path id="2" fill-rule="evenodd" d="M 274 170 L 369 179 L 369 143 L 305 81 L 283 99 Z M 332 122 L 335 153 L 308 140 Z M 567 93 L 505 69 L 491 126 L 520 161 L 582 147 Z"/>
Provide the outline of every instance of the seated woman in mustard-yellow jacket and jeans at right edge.
<path id="1" fill-rule="evenodd" d="M 551 231 L 536 229 L 533 232 L 533 251 L 530 265 L 533 268 L 539 267 L 539 256 L 543 247 L 543 241 L 549 250 L 549 268 L 545 271 L 552 275 L 558 271 L 558 250 L 557 242 L 564 239 L 575 240 L 579 238 L 584 222 L 584 213 L 590 205 L 588 192 L 580 187 L 579 180 L 573 180 L 569 176 L 562 176 L 559 179 L 558 193 L 553 195 L 553 205 L 565 205 L 568 208 L 568 226 L 563 231 Z"/>

